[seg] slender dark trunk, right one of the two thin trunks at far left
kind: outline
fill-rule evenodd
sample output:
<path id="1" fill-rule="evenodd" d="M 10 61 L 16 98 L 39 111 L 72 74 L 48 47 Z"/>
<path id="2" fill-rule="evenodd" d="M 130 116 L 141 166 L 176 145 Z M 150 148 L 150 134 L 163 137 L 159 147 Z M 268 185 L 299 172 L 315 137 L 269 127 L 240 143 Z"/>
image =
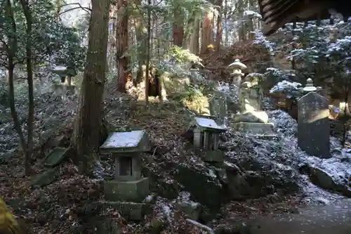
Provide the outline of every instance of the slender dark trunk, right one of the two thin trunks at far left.
<path id="1" fill-rule="evenodd" d="M 33 122 L 34 122 L 34 95 L 33 95 L 33 71 L 32 71 L 32 12 L 28 0 L 21 0 L 23 13 L 27 22 L 26 66 L 28 82 L 28 121 L 27 121 L 27 149 L 25 150 L 25 174 L 30 175 L 30 158 L 33 150 Z"/>

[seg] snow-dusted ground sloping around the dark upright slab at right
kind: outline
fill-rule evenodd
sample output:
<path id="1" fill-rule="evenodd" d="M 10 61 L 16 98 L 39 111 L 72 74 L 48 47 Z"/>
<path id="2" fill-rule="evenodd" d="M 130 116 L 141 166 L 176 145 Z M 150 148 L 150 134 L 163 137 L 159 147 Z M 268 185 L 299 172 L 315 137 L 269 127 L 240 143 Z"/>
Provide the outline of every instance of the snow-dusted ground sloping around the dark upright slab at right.
<path id="1" fill-rule="evenodd" d="M 299 173 L 299 169 L 301 165 L 308 164 L 310 167 L 321 169 L 329 174 L 337 184 L 347 185 L 351 178 L 351 152 L 342 150 L 340 141 L 331 136 L 331 155 L 333 157 L 321 159 L 307 155 L 298 147 L 296 120 L 282 110 L 267 111 L 267 114 L 269 122 L 275 126 L 278 137 L 274 140 L 256 138 L 228 129 L 225 134 L 227 141 L 222 145 L 228 150 L 227 160 L 236 163 L 243 157 L 248 157 L 250 163 L 252 160 L 256 161 L 263 170 L 266 170 L 263 167 L 267 167 L 267 171 L 276 171 L 276 176 L 284 181 L 298 183 L 304 194 L 302 200 L 306 202 L 328 203 L 343 197 L 315 186 L 308 176 Z"/>

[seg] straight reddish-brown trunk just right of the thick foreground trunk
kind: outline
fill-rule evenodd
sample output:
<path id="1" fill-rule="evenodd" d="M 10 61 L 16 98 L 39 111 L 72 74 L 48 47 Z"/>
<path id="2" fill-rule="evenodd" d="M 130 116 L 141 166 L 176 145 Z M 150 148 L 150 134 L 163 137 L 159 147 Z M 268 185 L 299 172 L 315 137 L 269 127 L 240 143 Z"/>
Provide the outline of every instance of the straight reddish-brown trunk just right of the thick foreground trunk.
<path id="1" fill-rule="evenodd" d="M 128 58 L 125 56 L 128 50 L 128 2 L 126 0 L 118 0 L 117 9 L 117 67 L 118 67 L 118 91 L 126 93 L 126 83 L 128 77 Z"/>

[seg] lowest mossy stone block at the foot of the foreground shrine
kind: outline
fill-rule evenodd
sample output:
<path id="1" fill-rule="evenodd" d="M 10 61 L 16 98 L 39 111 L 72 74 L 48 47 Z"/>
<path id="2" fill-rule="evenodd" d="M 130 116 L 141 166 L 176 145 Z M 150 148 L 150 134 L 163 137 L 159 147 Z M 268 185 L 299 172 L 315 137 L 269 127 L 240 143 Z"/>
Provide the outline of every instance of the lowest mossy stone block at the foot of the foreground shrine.
<path id="1" fill-rule="evenodd" d="M 105 209 L 116 209 L 121 216 L 133 221 L 144 219 L 151 212 L 150 204 L 135 202 L 106 202 Z"/>

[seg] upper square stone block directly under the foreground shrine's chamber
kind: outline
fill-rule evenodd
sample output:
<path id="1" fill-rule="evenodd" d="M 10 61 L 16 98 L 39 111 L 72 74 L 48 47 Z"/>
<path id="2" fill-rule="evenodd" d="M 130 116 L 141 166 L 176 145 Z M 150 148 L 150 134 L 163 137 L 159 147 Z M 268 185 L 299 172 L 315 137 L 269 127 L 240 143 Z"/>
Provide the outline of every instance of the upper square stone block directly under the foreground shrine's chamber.
<path id="1" fill-rule="evenodd" d="M 149 178 L 138 181 L 105 181 L 105 200 L 117 202 L 142 202 L 150 195 Z"/>

